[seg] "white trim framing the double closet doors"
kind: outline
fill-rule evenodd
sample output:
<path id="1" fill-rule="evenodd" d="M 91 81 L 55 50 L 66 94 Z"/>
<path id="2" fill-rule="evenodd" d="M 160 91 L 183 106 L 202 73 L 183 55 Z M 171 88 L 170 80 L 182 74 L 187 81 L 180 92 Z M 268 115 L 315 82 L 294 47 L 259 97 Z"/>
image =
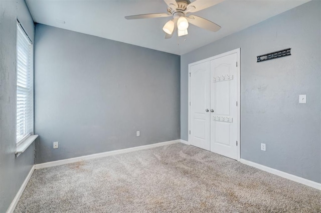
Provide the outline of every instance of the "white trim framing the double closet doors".
<path id="1" fill-rule="evenodd" d="M 191 143 L 191 134 L 190 134 L 190 130 L 191 130 L 191 106 L 190 106 L 190 102 L 191 102 L 191 72 L 190 72 L 190 68 L 191 66 L 198 64 L 198 63 L 203 63 L 205 61 L 210 61 L 219 57 L 224 57 L 226 55 L 230 55 L 230 54 L 234 54 L 237 53 L 237 161 L 240 161 L 241 158 L 241 49 L 237 48 L 237 49 L 233 49 L 231 51 L 228 52 L 224 52 L 222 54 L 218 54 L 215 55 L 213 57 L 209 57 L 203 60 L 199 60 L 193 63 L 189 63 L 189 69 L 188 69 L 188 76 L 189 76 L 189 95 L 188 95 L 188 108 L 189 108 L 189 117 L 188 117 L 188 139 L 189 139 L 189 143 Z M 236 103 L 235 103 L 236 104 Z"/>

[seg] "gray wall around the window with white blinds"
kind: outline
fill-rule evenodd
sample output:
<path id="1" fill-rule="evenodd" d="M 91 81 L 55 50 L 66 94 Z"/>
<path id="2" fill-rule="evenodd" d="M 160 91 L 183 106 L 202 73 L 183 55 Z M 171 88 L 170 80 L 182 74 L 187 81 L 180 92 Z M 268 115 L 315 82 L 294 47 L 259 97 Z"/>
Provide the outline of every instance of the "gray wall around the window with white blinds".
<path id="1" fill-rule="evenodd" d="M 6 212 L 34 164 L 34 144 L 15 157 L 17 18 L 34 39 L 24 0 L 0 0 L 0 212 Z"/>

